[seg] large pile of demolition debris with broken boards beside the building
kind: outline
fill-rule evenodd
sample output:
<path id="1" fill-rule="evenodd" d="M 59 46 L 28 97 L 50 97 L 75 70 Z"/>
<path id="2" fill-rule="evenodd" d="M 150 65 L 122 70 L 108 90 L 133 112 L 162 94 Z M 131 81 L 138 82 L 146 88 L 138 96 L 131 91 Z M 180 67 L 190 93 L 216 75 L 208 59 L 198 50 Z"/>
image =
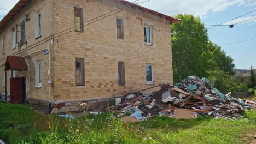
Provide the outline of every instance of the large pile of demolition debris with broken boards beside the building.
<path id="1" fill-rule="evenodd" d="M 118 116 L 131 114 L 123 117 L 123 122 L 143 121 L 155 115 L 174 118 L 212 115 L 215 118 L 234 120 L 241 118 L 241 112 L 245 109 L 256 107 L 255 101 L 236 99 L 231 97 L 231 93 L 222 94 L 210 85 L 208 79 L 196 76 L 189 76 L 174 86 L 162 84 L 155 87 L 159 87 L 159 91 L 141 93 L 144 89 L 116 98 L 114 112 L 121 112 Z"/>

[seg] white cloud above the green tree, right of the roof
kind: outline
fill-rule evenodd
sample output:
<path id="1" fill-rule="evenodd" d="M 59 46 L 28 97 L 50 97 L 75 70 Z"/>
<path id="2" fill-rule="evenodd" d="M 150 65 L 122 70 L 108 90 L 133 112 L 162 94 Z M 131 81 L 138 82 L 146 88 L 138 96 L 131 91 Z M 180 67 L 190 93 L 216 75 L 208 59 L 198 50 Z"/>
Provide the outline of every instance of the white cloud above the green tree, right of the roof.
<path id="1" fill-rule="evenodd" d="M 149 0 L 141 5 L 167 15 L 185 13 L 206 17 L 211 12 L 224 11 L 234 5 L 251 7 L 252 4 L 256 5 L 255 0 Z"/>

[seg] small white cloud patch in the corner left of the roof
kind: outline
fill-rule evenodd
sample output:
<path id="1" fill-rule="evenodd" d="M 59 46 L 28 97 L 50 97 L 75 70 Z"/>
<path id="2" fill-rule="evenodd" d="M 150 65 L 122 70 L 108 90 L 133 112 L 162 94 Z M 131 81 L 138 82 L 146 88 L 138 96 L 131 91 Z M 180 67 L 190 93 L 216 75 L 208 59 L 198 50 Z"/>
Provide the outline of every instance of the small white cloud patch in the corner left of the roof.
<path id="1" fill-rule="evenodd" d="M 18 2 L 19 0 L 1 0 L 0 1 L 0 16 L 4 17 L 10 10 L 11 8 L 14 7 L 14 5 Z"/>

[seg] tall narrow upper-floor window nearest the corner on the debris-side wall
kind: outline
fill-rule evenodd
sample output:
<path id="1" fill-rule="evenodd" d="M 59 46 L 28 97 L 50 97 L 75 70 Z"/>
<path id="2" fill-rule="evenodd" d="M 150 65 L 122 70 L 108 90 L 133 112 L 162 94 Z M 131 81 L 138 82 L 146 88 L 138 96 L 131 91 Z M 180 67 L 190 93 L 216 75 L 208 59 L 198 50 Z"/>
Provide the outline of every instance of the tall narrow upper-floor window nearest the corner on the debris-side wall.
<path id="1" fill-rule="evenodd" d="M 84 32 L 83 8 L 80 5 L 75 6 L 75 31 Z"/>

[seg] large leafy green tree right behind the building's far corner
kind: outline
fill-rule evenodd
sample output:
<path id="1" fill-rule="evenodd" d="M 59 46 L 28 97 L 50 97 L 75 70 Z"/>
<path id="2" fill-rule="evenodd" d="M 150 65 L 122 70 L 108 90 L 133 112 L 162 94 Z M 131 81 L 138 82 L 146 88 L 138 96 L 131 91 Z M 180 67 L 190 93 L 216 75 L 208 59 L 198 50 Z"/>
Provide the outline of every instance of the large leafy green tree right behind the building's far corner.
<path id="1" fill-rule="evenodd" d="M 207 77 L 216 68 L 234 75 L 234 60 L 208 39 L 207 29 L 199 17 L 188 14 L 174 16 L 181 23 L 171 25 L 173 80 L 185 77 Z"/>

